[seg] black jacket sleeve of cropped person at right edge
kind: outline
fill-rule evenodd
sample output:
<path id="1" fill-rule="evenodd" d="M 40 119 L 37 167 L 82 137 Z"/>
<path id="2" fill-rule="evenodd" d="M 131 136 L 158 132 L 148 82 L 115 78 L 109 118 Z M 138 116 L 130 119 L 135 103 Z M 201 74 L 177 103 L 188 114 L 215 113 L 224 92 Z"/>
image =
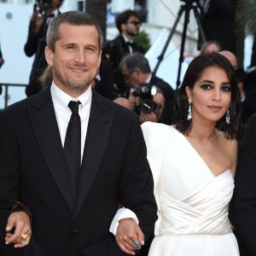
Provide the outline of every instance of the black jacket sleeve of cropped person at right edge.
<path id="1" fill-rule="evenodd" d="M 249 119 L 240 143 L 235 190 L 230 205 L 241 256 L 256 255 L 256 114 Z"/>

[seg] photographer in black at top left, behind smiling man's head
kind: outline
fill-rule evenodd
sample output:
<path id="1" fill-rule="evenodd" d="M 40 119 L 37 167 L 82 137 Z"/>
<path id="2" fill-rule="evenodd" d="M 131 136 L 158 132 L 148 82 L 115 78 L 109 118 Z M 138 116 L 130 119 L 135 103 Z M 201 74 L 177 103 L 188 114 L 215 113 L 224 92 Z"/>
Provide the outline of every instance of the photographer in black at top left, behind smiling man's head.
<path id="1" fill-rule="evenodd" d="M 49 21 L 60 14 L 59 8 L 63 0 L 38 0 L 34 4 L 32 20 L 28 28 L 28 36 L 24 47 L 28 57 L 35 55 L 30 73 L 29 84 L 26 86 L 26 96 L 37 94 L 38 78 L 44 73 L 47 66 L 44 58 L 44 48 L 46 46 L 45 37 Z"/>

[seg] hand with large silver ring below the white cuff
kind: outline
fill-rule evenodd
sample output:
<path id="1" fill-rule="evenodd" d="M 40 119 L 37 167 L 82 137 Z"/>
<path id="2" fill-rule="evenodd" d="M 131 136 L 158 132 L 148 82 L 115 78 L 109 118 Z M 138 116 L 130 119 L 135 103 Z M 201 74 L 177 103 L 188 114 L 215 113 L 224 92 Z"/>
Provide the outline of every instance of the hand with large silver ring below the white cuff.
<path id="1" fill-rule="evenodd" d="M 124 253 L 131 255 L 134 255 L 135 251 L 140 249 L 140 245 L 144 245 L 143 231 L 133 218 L 123 218 L 119 220 L 115 240 Z M 137 242 L 139 242 L 139 244 Z"/>

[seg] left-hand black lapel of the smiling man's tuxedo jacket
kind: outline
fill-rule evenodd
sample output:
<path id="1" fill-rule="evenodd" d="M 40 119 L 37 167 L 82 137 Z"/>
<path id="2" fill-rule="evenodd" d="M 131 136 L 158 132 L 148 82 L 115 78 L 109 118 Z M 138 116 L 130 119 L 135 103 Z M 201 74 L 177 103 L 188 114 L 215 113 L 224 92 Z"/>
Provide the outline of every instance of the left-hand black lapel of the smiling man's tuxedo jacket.
<path id="1" fill-rule="evenodd" d="M 55 118 L 50 90 L 45 90 L 32 99 L 29 113 L 33 130 L 49 167 L 49 172 L 60 189 L 68 207 L 73 210 L 73 199 L 67 179 L 61 136 Z"/>

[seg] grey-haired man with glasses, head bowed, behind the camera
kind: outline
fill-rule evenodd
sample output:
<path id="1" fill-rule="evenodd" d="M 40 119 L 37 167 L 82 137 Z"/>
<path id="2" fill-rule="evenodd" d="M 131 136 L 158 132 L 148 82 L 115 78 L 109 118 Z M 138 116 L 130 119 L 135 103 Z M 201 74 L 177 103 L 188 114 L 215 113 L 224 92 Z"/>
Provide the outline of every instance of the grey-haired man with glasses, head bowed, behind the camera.
<path id="1" fill-rule="evenodd" d="M 151 73 L 147 58 L 138 53 L 127 55 L 119 65 L 129 88 L 129 99 L 133 101 L 133 91 L 139 84 L 155 85 L 165 96 L 165 108 L 161 114 L 160 123 L 171 125 L 175 92 L 170 84 Z M 151 121 L 154 121 L 153 119 Z"/>

